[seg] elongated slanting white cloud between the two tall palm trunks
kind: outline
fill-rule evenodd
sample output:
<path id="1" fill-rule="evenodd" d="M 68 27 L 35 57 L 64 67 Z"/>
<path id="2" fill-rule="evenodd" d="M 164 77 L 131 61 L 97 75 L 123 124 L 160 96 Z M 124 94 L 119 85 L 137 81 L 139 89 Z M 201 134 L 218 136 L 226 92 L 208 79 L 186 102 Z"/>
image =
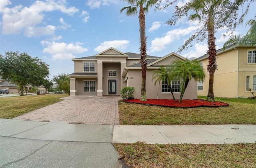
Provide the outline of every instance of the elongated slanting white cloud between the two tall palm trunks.
<path id="1" fill-rule="evenodd" d="M 185 29 L 179 28 L 168 31 L 164 37 L 155 38 L 151 41 L 150 52 L 164 50 L 166 45 L 169 45 L 174 40 L 176 41 L 180 39 L 181 36 L 185 36 L 194 32 L 197 28 L 197 26 L 192 26 Z"/>

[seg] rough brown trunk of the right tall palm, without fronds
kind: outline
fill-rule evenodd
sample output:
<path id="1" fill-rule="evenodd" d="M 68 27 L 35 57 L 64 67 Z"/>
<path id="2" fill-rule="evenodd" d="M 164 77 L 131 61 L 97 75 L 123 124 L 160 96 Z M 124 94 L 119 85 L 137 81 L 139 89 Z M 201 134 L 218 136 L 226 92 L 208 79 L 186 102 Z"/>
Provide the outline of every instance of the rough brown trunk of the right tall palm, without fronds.
<path id="1" fill-rule="evenodd" d="M 215 102 L 214 100 L 214 92 L 213 92 L 213 81 L 214 81 L 214 72 L 217 69 L 216 62 L 216 45 L 215 45 L 215 37 L 214 37 L 214 20 L 211 12 L 209 12 L 209 19 L 207 23 L 207 31 L 208 31 L 208 66 L 207 71 L 209 72 L 209 88 L 208 88 L 208 96 L 207 102 Z"/>

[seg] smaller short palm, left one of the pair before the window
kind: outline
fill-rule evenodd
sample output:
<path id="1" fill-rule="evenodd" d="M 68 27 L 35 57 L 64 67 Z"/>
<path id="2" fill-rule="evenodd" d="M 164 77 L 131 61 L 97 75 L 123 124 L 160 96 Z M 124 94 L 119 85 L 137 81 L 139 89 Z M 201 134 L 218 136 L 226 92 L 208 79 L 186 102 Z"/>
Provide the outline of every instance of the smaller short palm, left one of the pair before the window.
<path id="1" fill-rule="evenodd" d="M 173 91 L 172 91 L 172 80 L 174 79 L 171 74 L 170 64 L 164 66 L 160 66 L 158 69 L 153 70 L 152 74 L 152 81 L 155 79 L 154 85 L 156 86 L 156 82 L 165 82 L 170 88 L 170 92 L 172 94 L 173 100 L 176 102 L 176 99 L 174 98 Z"/>

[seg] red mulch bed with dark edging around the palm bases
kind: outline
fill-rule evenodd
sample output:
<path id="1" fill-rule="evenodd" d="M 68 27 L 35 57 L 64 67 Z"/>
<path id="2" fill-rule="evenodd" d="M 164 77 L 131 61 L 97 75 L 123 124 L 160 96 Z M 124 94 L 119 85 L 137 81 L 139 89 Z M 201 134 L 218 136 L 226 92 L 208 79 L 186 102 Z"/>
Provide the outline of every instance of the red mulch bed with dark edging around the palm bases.
<path id="1" fill-rule="evenodd" d="M 141 102 L 140 99 L 132 99 L 132 100 L 124 100 L 127 103 L 135 103 L 135 104 L 145 104 L 145 105 L 153 105 L 153 106 L 162 106 L 162 107 L 174 107 L 174 108 L 194 108 L 194 107 L 224 107 L 228 106 L 228 104 L 223 102 L 206 102 L 206 100 L 182 100 L 179 103 L 174 102 L 174 100 L 168 99 L 147 99 L 146 102 Z"/>

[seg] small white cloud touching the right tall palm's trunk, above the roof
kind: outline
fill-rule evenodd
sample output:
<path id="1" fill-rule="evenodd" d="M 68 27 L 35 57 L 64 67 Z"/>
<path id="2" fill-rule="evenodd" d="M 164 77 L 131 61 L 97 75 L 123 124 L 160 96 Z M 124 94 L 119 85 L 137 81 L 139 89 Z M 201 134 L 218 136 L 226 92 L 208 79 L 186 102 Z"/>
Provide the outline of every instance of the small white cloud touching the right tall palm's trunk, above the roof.
<path id="1" fill-rule="evenodd" d="M 193 46 L 192 51 L 183 54 L 182 56 L 185 58 L 191 58 L 191 57 L 201 57 L 206 54 L 206 51 L 208 50 L 207 44 L 204 43 L 196 43 L 196 45 Z"/>

